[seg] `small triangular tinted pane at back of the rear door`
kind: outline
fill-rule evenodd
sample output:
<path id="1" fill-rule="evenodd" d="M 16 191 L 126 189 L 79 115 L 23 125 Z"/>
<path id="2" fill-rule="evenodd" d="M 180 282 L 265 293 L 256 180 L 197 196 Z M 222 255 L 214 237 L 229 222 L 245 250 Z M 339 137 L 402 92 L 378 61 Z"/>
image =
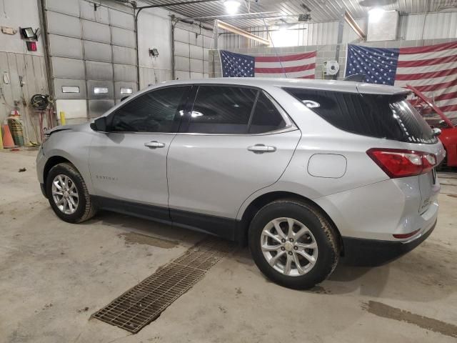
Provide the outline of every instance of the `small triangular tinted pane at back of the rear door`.
<path id="1" fill-rule="evenodd" d="M 261 134 L 282 129 L 284 126 L 286 126 L 286 122 L 278 109 L 276 109 L 276 106 L 261 92 L 256 102 L 249 133 Z"/>

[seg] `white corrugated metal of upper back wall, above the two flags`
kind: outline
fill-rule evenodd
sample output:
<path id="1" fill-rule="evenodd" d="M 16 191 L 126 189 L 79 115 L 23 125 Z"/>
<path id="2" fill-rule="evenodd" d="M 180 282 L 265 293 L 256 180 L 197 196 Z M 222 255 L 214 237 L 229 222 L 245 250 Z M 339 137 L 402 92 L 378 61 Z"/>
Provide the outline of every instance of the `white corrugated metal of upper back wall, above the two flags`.
<path id="1" fill-rule="evenodd" d="M 356 21 L 362 29 L 366 30 L 366 19 L 357 19 Z M 299 29 L 298 39 L 296 39 L 296 44 L 293 44 L 293 46 L 337 43 L 338 21 L 298 24 L 297 28 Z M 253 27 L 247 31 L 253 31 L 254 34 L 263 38 L 268 37 L 266 29 L 263 26 Z M 290 34 L 295 35 L 296 33 L 294 31 L 290 31 Z M 401 16 L 400 28 L 398 31 L 399 38 L 407 41 L 457 38 L 457 12 L 433 12 L 428 14 Z M 271 36 L 273 37 L 274 43 L 274 32 L 271 32 Z M 345 24 L 343 43 L 351 43 L 354 41 L 359 41 L 358 36 L 348 24 Z M 281 46 L 281 44 L 278 45 Z M 219 39 L 219 47 L 221 49 L 243 49 L 257 46 L 261 46 L 261 44 L 235 34 L 222 34 Z"/>

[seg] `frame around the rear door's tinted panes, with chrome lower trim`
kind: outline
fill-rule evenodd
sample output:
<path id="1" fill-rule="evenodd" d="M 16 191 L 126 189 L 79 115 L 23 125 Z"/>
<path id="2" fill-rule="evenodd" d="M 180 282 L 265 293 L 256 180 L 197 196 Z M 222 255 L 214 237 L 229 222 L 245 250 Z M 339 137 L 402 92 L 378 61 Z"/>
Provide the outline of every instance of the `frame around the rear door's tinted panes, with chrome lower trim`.
<path id="1" fill-rule="evenodd" d="M 268 92 L 261 87 L 248 86 L 245 84 L 216 84 L 216 83 L 192 84 L 192 86 L 193 87 L 191 90 L 191 94 L 189 95 L 189 101 L 185 106 L 186 107 L 185 113 L 184 113 L 184 117 L 181 121 L 181 126 L 179 127 L 178 134 L 191 134 L 191 135 L 201 135 L 201 136 L 264 136 L 264 135 L 268 135 L 268 134 L 279 134 L 282 132 L 294 131 L 294 130 L 298 129 L 298 127 L 292 121 L 291 117 L 288 116 L 287 112 L 282 108 L 282 106 L 278 103 L 278 101 L 276 101 L 276 99 L 274 99 L 273 96 L 268 94 Z M 257 91 L 256 98 L 254 99 L 253 106 L 251 108 L 251 114 L 249 115 L 246 133 L 244 133 L 244 134 L 241 134 L 241 133 L 211 134 L 211 133 L 204 133 L 204 132 L 189 132 L 188 131 L 189 124 L 191 123 L 191 111 L 192 111 L 192 109 L 194 109 L 196 97 L 199 93 L 199 89 L 201 86 L 231 87 L 231 88 L 236 87 L 236 88 L 253 89 L 253 90 Z M 256 109 L 257 100 L 258 100 L 258 97 L 260 96 L 261 92 L 263 92 L 263 94 L 268 98 L 268 100 L 271 101 L 271 104 L 273 104 L 273 106 L 275 106 L 276 110 L 278 111 L 279 115 L 281 115 L 281 117 L 283 118 L 283 121 L 286 123 L 286 125 L 281 129 L 261 132 L 258 134 L 250 134 L 249 127 L 251 126 L 253 114 Z"/>

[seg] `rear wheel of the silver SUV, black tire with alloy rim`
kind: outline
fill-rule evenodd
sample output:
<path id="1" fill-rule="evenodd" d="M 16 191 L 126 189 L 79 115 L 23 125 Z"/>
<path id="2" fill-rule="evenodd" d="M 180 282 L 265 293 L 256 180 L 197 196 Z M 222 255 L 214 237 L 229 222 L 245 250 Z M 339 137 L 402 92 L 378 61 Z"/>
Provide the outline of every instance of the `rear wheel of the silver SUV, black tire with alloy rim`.
<path id="1" fill-rule="evenodd" d="M 276 229 L 277 224 L 286 236 L 280 239 L 281 243 L 278 242 L 281 234 Z M 288 230 L 291 224 L 293 234 Z M 258 269 L 273 282 L 292 289 L 310 289 L 322 282 L 333 272 L 340 256 L 336 229 L 320 209 L 293 199 L 278 200 L 262 207 L 252 219 L 248 241 Z M 303 244 L 311 249 L 303 248 Z M 264 250 L 277 246 L 279 248 L 274 251 Z"/>

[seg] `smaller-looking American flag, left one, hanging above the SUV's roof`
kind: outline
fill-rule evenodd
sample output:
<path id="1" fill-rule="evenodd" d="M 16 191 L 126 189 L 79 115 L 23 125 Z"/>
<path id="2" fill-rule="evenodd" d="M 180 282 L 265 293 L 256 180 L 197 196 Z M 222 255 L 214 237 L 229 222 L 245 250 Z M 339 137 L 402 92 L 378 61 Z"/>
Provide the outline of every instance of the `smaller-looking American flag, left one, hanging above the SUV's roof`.
<path id="1" fill-rule="evenodd" d="M 221 50 L 224 77 L 314 79 L 316 51 L 281 56 L 249 56 Z"/>

